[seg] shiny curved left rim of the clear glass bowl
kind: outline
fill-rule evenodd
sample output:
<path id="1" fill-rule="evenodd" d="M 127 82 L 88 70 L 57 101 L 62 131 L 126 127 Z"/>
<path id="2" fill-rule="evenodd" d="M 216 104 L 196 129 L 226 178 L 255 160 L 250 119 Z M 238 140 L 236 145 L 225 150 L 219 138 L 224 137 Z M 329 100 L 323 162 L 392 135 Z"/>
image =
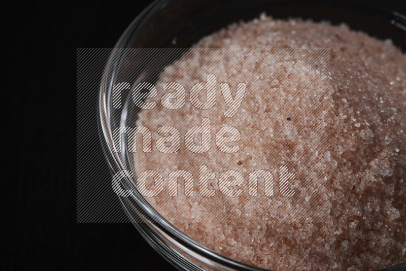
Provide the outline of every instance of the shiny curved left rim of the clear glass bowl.
<path id="1" fill-rule="evenodd" d="M 154 12 L 158 11 L 162 8 L 164 8 L 168 3 L 173 2 L 173 0 L 155 0 L 152 2 L 149 6 L 147 6 L 131 23 L 130 25 L 124 30 L 122 33 L 121 37 L 117 41 L 116 45 L 114 48 L 128 48 L 126 47 L 128 45 L 128 41 L 130 38 L 136 33 L 136 30 L 138 27 L 142 27 L 146 21 L 152 16 L 154 16 Z M 119 159 L 112 148 L 112 133 L 111 133 L 111 127 L 109 123 L 109 118 L 110 118 L 110 113 L 109 113 L 109 108 L 107 106 L 106 101 L 108 98 L 106 98 L 107 94 L 107 88 L 106 86 L 103 85 L 103 82 L 107 80 L 108 74 L 110 69 L 112 68 L 112 62 L 114 59 L 115 55 L 115 50 L 113 50 L 112 54 L 109 57 L 109 60 L 107 61 L 104 74 L 103 74 L 103 79 L 101 80 L 101 85 L 100 85 L 100 93 L 99 93 L 99 119 L 100 119 L 100 140 L 103 141 L 102 138 L 105 140 L 105 144 L 103 144 L 104 147 L 104 152 L 105 156 L 107 157 L 107 160 L 112 168 L 117 166 L 120 168 L 120 170 L 125 170 L 125 166 L 122 163 L 121 159 Z M 113 69 L 117 69 L 117 67 L 113 67 Z M 114 74 L 114 72 L 113 72 Z M 107 144 L 106 144 L 107 143 Z M 107 150 L 106 150 L 107 149 Z M 114 163 L 112 163 L 111 159 L 109 157 L 113 158 Z M 123 206 L 123 208 L 126 208 L 126 203 L 123 202 L 123 199 L 121 197 L 120 201 Z M 138 199 L 136 199 L 138 200 Z M 142 205 L 144 208 L 147 208 L 147 206 L 144 204 L 145 202 L 142 202 Z M 130 216 L 128 212 L 127 216 Z M 255 271 L 269 271 L 268 269 L 263 269 L 259 268 L 253 265 L 249 265 L 234 259 L 231 259 L 227 256 L 224 256 L 220 253 L 217 253 L 204 245 L 201 245 L 200 243 L 194 241 L 191 239 L 188 235 L 180 231 L 178 228 L 176 228 L 174 225 L 172 225 L 170 222 L 166 221 L 163 219 L 159 213 L 150 206 L 150 208 L 147 210 L 148 215 L 144 216 L 142 220 L 144 222 L 136 222 L 134 221 L 131 217 L 130 220 L 134 225 L 137 223 L 136 228 L 140 233 L 143 235 L 145 239 L 151 238 L 151 235 L 148 234 L 148 232 L 145 232 L 146 230 L 154 230 L 154 231 L 159 231 L 160 234 L 166 235 L 165 237 L 172 238 L 175 242 L 179 243 L 179 245 L 186 247 L 188 250 L 191 250 L 194 253 L 197 253 L 201 257 L 205 257 L 209 262 L 208 264 L 213 264 L 213 262 L 217 263 L 219 266 L 226 266 L 231 269 L 235 270 L 255 270 Z M 152 218 L 152 219 L 151 219 Z M 154 226 L 154 228 L 152 227 Z M 144 232 L 143 232 L 144 231 Z M 149 236 L 146 236 L 149 235 Z M 156 239 L 161 239 L 158 240 L 158 247 L 159 243 L 165 242 L 162 238 L 159 238 L 159 236 L 154 235 L 153 238 Z M 153 246 L 153 248 L 160 254 L 162 255 L 162 251 L 159 251 L 159 248 L 157 248 L 157 244 L 151 244 L 151 240 L 147 240 L 150 245 Z M 165 257 L 166 260 L 170 261 L 171 264 L 174 264 L 173 259 L 171 257 L 167 257 L 167 255 L 162 255 Z M 200 259 L 201 260 L 201 259 Z M 176 265 L 176 267 L 179 267 Z M 230 269 L 230 270 L 231 270 Z"/>

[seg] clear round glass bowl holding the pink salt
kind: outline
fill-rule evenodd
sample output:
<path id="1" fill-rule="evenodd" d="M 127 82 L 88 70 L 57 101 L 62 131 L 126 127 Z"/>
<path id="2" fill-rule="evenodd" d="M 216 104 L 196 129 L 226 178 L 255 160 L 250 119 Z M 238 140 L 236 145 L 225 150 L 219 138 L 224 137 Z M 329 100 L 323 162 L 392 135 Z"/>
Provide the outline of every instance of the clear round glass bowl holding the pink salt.
<path id="1" fill-rule="evenodd" d="M 406 17 L 396 10 L 377 7 L 360 1 L 187 1 L 159 0 L 148 6 L 128 26 L 115 48 L 188 48 L 200 38 L 226 25 L 251 20 L 265 12 L 276 19 L 300 17 L 332 24 L 346 23 L 353 30 L 362 30 L 381 40 L 391 39 L 403 52 L 406 50 Z M 128 126 L 137 118 L 131 97 L 122 98 L 120 110 L 113 110 L 113 85 L 120 82 L 119 72 L 125 69 L 122 50 L 113 50 L 100 85 L 99 113 L 101 141 L 113 172 L 131 170 L 129 154 L 118 155 L 112 149 L 112 130 Z M 140 61 L 145 61 L 140 59 Z M 146 76 L 138 71 L 134 77 Z M 125 144 L 125 142 L 123 143 Z M 128 177 L 121 180 L 130 188 Z M 218 254 L 193 241 L 163 219 L 145 200 L 134 193 L 119 197 L 124 211 L 145 240 L 165 259 L 181 270 L 263 270 Z M 140 222 L 142 221 L 142 222 Z M 404 270 L 406 263 L 385 270 Z"/>

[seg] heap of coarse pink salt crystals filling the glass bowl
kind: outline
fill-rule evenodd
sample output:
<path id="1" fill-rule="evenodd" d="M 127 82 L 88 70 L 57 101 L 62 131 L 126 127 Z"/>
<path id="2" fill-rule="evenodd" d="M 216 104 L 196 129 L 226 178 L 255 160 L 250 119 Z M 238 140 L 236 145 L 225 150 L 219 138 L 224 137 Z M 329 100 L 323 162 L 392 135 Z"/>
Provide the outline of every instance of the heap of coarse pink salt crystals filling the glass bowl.
<path id="1" fill-rule="evenodd" d="M 193 218 L 176 220 L 172 219 L 167 209 L 159 209 L 165 200 L 172 199 L 151 198 L 151 204 L 197 242 L 227 257 L 263 268 L 370 270 L 405 261 L 406 56 L 390 41 L 378 41 L 364 33 L 351 31 L 345 25 L 331 26 L 297 19 L 281 21 L 266 16 L 248 23 L 232 24 L 202 39 L 195 47 L 331 48 L 331 88 L 328 96 L 332 110 L 328 111 L 328 119 L 323 120 L 328 122 L 329 152 L 313 161 L 320 167 L 320 176 L 328 176 L 332 188 L 324 196 L 330 204 L 330 218 L 325 223 L 281 226 L 266 221 L 266 210 L 258 208 L 252 210 L 249 223 L 218 223 L 206 219 L 209 201 L 194 197 L 187 202 L 172 202 L 171 206 L 176 211 Z M 200 57 L 204 62 L 204 55 Z M 184 58 L 168 67 L 160 80 L 202 81 L 200 77 L 185 78 L 184 74 L 179 73 L 180 66 L 186 61 L 187 58 Z M 210 59 L 206 61 L 210 62 Z M 196 66 L 190 66 L 192 62 L 187 64 L 188 69 L 199 71 L 198 63 Z M 257 73 L 262 75 L 261 71 Z M 235 80 L 238 79 L 230 82 Z M 268 87 L 278 87 L 278 82 L 269 82 Z M 258 108 L 252 116 L 246 116 L 244 114 L 247 113 L 241 111 L 241 117 L 233 124 L 241 128 L 242 134 L 243 131 L 256 130 L 253 138 L 263 138 L 264 141 L 245 139 L 242 150 L 228 160 L 221 160 L 213 153 L 194 159 L 192 156 L 186 157 L 187 153 L 181 149 L 178 156 L 172 156 L 174 158 L 161 158 L 162 155 L 155 151 L 146 158 L 145 164 L 151 165 L 151 168 L 164 164 L 167 171 L 172 171 L 196 168 L 201 161 L 205 161 L 216 173 L 230 168 L 239 168 L 244 172 L 245 168 L 266 167 L 266 163 L 274 166 L 266 150 L 276 148 L 277 143 L 269 138 L 283 129 L 275 129 L 273 120 L 278 117 L 286 119 L 286 115 L 281 113 L 282 107 L 281 112 L 278 111 L 278 100 L 267 96 L 268 92 L 258 91 L 258 95 L 261 101 L 254 100 L 255 95 L 251 95 L 245 103 L 252 102 L 253 107 L 255 103 L 272 104 L 277 110 L 270 114 Z M 216 111 L 216 114 L 220 115 L 219 112 Z M 176 123 L 177 119 L 185 122 L 187 118 L 184 112 L 168 114 L 157 107 L 142 111 L 138 124 L 158 127 Z M 213 117 L 212 125 L 220 127 L 223 121 Z M 289 125 L 298 124 L 293 120 Z M 294 135 L 284 137 L 295 140 Z M 310 141 L 309 138 L 305 140 Z M 306 148 L 306 142 L 301 144 Z M 305 159 L 300 155 L 293 158 Z M 136 157 L 136 161 L 140 161 L 140 158 Z M 138 166 L 136 164 L 136 168 Z M 238 206 L 234 207 L 238 209 Z M 251 207 L 255 207 L 255 204 Z M 198 217 L 205 219 L 199 220 Z"/>

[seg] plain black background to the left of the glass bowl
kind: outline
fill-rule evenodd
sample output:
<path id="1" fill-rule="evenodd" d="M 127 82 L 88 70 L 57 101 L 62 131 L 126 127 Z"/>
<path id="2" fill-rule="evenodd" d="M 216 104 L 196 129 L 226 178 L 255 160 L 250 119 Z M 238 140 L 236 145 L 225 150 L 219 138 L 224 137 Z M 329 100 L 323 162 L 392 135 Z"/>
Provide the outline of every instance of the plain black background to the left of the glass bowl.
<path id="1" fill-rule="evenodd" d="M 130 223 L 76 223 L 76 49 L 113 47 L 150 2 L 2 4 L 2 270 L 175 269 Z"/>

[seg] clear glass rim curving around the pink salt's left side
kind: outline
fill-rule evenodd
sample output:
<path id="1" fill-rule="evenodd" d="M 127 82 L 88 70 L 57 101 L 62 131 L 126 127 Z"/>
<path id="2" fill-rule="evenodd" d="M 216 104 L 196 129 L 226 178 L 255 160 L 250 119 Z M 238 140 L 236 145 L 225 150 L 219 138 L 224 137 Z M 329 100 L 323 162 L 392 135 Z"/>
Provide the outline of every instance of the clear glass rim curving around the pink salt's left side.
<path id="1" fill-rule="evenodd" d="M 145 23 L 148 21 L 148 19 L 152 16 L 154 16 L 155 12 L 160 10 L 162 7 L 166 6 L 168 3 L 172 2 L 172 0 L 155 0 L 153 3 L 151 3 L 147 8 L 143 10 L 131 23 L 130 25 L 125 29 L 123 34 L 121 35 L 120 39 L 116 43 L 114 48 L 127 48 L 129 40 L 133 35 L 136 34 L 137 30 L 140 29 L 140 27 L 143 27 Z M 392 12 L 394 16 L 402 16 L 397 12 Z M 406 17 L 404 17 L 406 18 Z M 403 18 L 403 20 L 405 20 Z M 405 20 L 406 21 L 406 20 Z M 397 21 L 395 21 L 397 22 Z M 392 22 L 394 24 L 394 22 Z M 405 24 L 406 25 L 406 24 Z M 404 25 L 401 24 L 402 27 L 405 27 Z M 400 27 L 400 26 L 399 26 Z M 406 30 L 406 27 L 404 28 Z M 107 82 L 107 75 L 110 74 L 115 74 L 117 67 L 112 65 L 112 61 L 114 59 L 114 54 L 115 52 L 113 51 L 112 55 L 110 56 L 105 72 L 103 75 L 103 79 L 100 84 L 100 93 L 99 93 L 99 120 L 100 120 L 100 141 L 104 145 L 104 151 L 105 155 L 107 157 L 107 160 L 112 168 L 119 168 L 120 170 L 126 170 L 124 164 L 122 163 L 122 160 L 120 157 L 117 156 L 117 154 L 113 151 L 112 148 L 112 130 L 110 126 L 110 110 L 109 110 L 109 92 L 110 88 L 108 84 L 104 84 L 104 82 Z M 129 182 L 129 180 L 127 180 Z M 134 200 L 139 202 L 140 206 L 144 208 L 147 213 L 147 215 L 144 215 L 143 221 L 145 223 L 139 223 L 139 222 L 134 222 L 132 219 L 132 222 L 134 226 L 138 229 L 138 231 L 143 235 L 143 237 L 147 240 L 148 243 L 164 258 L 166 258 L 168 261 L 170 261 L 172 264 L 176 263 L 177 268 L 183 267 L 185 269 L 196 269 L 200 270 L 200 268 L 196 266 L 190 266 L 188 263 L 182 263 L 180 261 L 186 260 L 183 255 L 179 254 L 177 255 L 168 255 L 165 252 L 162 252 L 162 246 L 165 246 L 167 244 L 162 244 L 159 246 L 159 243 L 165 243 L 164 240 L 171 239 L 172 242 L 177 243 L 180 246 L 183 246 L 186 248 L 189 254 L 194 254 L 198 255 L 200 260 L 206 262 L 209 265 L 216 266 L 217 268 L 224 269 L 224 270 L 267 270 L 263 268 L 258 268 L 252 265 L 248 265 L 239 261 L 236 261 L 234 259 L 228 258 L 224 255 L 221 255 L 203 245 L 200 243 L 197 243 L 193 239 L 191 239 L 189 236 L 184 234 L 182 231 L 180 231 L 178 228 L 173 226 L 171 223 L 163 219 L 159 213 L 152 208 L 150 205 L 145 205 L 145 201 L 140 201 L 140 198 L 138 197 L 133 197 Z M 122 201 L 120 198 L 123 208 L 126 211 L 127 215 L 131 219 L 131 214 L 128 213 L 126 210 L 126 203 Z M 143 215 L 143 214 L 140 214 Z M 152 219 L 151 219 L 152 218 Z M 164 238 L 162 238 L 164 236 Z M 180 259 L 180 258 L 182 259 Z M 207 259 L 207 261 L 205 260 Z M 180 265 L 180 266 L 179 266 Z M 387 267 L 381 270 L 401 270 L 405 268 L 406 269 L 406 262 L 401 263 L 399 265 Z"/>

